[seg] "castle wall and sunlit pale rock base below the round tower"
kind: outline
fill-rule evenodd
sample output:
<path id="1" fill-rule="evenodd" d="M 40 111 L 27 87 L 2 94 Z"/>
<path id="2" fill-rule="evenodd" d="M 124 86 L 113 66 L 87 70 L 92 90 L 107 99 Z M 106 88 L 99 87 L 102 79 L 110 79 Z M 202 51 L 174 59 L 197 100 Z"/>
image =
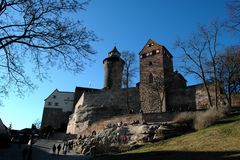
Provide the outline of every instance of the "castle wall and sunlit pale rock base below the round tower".
<path id="1" fill-rule="evenodd" d="M 133 112 L 140 110 L 138 88 L 129 89 L 129 107 Z M 67 133 L 81 133 L 94 122 L 126 113 L 126 89 L 85 92 L 69 118 Z"/>

